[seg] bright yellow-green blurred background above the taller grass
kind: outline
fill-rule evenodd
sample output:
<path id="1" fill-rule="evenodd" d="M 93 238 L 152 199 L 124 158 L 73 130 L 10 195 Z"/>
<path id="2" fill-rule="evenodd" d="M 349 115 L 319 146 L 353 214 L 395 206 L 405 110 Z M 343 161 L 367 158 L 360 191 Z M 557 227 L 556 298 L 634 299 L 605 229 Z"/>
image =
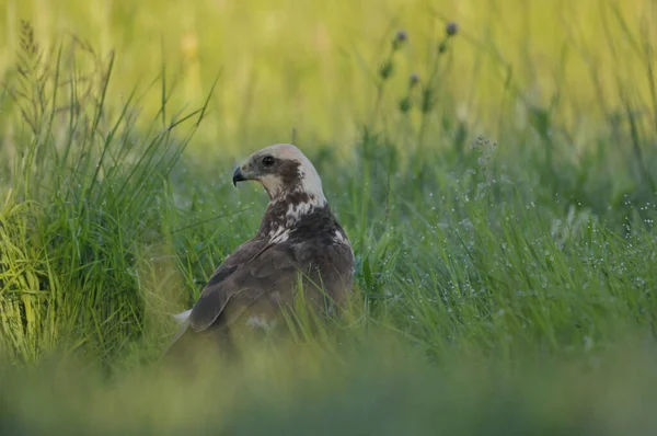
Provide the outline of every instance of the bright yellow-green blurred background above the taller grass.
<path id="1" fill-rule="evenodd" d="M 598 107 L 619 102 L 619 82 L 631 96 L 648 92 L 638 43 L 642 37 L 656 41 L 656 4 L 654 0 L 1 0 L 0 72 L 12 68 L 20 20 L 27 19 L 44 46 L 71 33 L 101 55 L 115 50 L 110 97 L 117 102 L 138 82 L 154 79 L 162 60 L 169 77 L 180 79 L 174 107 L 199 103 L 220 73 L 201 138 L 223 147 L 287 140 L 292 129 L 307 142 L 345 144 L 354 139 L 356 124 L 371 106 L 371 71 L 394 32 L 406 30 L 410 44 L 399 56 L 390 101 L 401 96 L 407 74 L 426 73 L 427 53 L 436 49 L 446 20 L 453 20 L 461 32 L 453 41 L 453 65 L 445 85 L 453 91 L 447 105 L 456 114 L 489 134 L 507 84 L 537 105 L 549 104 L 558 89 L 560 121 L 595 129 Z M 591 71 L 600 85 L 593 84 Z M 147 106 L 159 107 L 158 92 L 149 99 Z"/>

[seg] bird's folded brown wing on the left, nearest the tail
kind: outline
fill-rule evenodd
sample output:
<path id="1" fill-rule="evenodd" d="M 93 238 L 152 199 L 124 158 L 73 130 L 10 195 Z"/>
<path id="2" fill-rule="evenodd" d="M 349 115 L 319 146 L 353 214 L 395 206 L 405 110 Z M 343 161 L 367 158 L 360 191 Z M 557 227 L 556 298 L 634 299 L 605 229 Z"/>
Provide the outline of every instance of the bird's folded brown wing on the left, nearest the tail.
<path id="1" fill-rule="evenodd" d="M 297 263 L 289 244 L 252 240 L 240 245 L 215 272 L 189 314 L 194 331 L 209 328 L 229 300 L 254 302 L 262 295 L 289 283 Z M 234 319 L 234 317 L 231 317 Z M 230 322 L 230 320 L 227 320 Z"/>

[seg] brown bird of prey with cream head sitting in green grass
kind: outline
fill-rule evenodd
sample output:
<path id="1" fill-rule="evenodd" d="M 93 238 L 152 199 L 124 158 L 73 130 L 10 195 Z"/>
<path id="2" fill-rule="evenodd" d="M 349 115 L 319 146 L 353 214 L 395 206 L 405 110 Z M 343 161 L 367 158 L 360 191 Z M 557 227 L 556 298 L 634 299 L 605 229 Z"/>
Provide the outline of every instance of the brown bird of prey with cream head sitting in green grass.
<path id="1" fill-rule="evenodd" d="M 347 302 L 354 251 L 310 160 L 292 145 L 269 146 L 235 169 L 233 184 L 243 181 L 262 183 L 269 196 L 257 233 L 223 260 L 194 307 L 176 315 L 182 325 L 168 355 L 185 341 L 230 347 L 231 331 L 272 328 L 281 308 L 295 305 L 299 284 L 315 309 Z"/>

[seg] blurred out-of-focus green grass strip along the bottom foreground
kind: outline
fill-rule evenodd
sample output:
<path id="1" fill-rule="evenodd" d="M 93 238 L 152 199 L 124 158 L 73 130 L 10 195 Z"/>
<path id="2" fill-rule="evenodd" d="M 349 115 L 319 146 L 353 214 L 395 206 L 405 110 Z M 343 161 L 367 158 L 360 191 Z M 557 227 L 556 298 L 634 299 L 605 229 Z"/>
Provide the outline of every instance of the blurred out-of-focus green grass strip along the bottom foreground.
<path id="1" fill-rule="evenodd" d="M 427 365 L 370 337 L 339 354 L 253 352 L 185 379 L 51 368 L 3 381 L 7 435 L 652 435 L 655 355 L 590 365 Z M 377 345 L 372 345 L 373 342 Z M 384 345 L 384 346 L 383 346 Z M 339 358 L 338 358 L 339 357 Z M 627 365 L 632 362 L 631 367 Z M 593 369 L 591 369 L 591 367 Z"/>

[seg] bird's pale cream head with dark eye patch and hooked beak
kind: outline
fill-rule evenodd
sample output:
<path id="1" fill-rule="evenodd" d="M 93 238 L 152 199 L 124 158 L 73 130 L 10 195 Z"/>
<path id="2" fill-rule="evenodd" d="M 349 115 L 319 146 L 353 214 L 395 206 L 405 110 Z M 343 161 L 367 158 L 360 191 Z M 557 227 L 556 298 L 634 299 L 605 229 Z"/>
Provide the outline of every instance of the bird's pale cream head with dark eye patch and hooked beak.
<path id="1" fill-rule="evenodd" d="M 303 203 L 324 205 L 322 181 L 310 160 L 289 144 L 277 144 L 251 154 L 235 169 L 233 184 L 255 180 L 263 184 L 272 202 L 291 195 L 302 196 Z"/>

